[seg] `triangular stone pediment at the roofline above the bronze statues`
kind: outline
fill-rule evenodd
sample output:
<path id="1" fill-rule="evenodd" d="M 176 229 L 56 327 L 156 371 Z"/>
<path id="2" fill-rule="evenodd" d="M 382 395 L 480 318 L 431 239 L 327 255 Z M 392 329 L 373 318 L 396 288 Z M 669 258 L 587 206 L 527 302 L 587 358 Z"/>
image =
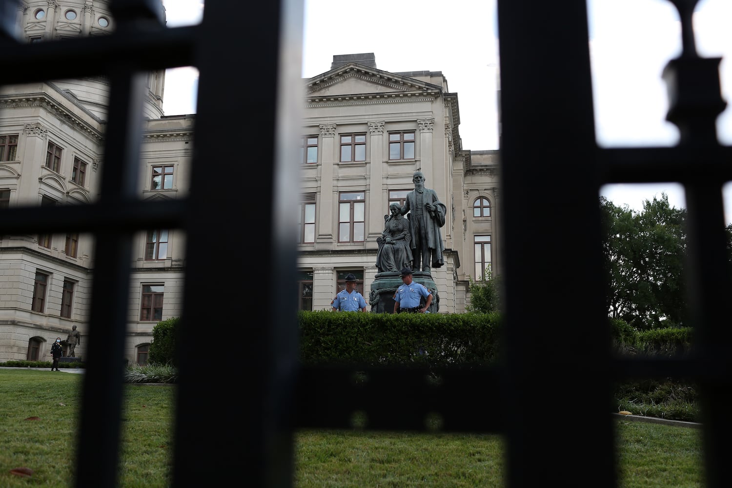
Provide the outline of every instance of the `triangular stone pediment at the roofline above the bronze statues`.
<path id="1" fill-rule="evenodd" d="M 441 87 L 388 71 L 377 70 L 358 63 L 343 64 L 307 80 L 307 97 L 337 99 L 365 95 L 403 97 L 431 94 L 437 96 Z"/>

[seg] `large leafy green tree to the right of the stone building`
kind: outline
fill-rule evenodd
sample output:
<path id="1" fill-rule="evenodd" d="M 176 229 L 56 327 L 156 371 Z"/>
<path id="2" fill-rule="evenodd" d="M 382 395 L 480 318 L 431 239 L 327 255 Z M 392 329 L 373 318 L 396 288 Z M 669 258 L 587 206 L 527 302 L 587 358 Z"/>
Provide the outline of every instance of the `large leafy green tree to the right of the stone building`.
<path id="1" fill-rule="evenodd" d="M 640 212 L 604 197 L 600 208 L 610 317 L 643 330 L 688 323 L 686 209 L 671 208 L 665 193 Z"/>

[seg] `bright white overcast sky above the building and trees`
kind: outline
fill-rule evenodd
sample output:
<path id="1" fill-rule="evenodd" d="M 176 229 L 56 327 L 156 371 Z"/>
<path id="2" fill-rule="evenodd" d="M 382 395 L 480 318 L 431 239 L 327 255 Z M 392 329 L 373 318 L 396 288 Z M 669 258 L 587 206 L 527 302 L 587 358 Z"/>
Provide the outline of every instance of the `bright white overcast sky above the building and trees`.
<path id="1" fill-rule="evenodd" d="M 163 0 L 168 26 L 201 20 L 201 0 Z M 588 0 L 597 143 L 603 147 L 673 146 L 679 133 L 668 110 L 661 72 L 681 53 L 681 27 L 668 0 Z M 446 17 L 447 16 L 447 17 Z M 700 0 L 694 17 L 701 56 L 722 57 L 722 97 L 732 100 L 732 1 Z M 389 29 L 394 26 L 395 29 Z M 498 149 L 496 0 L 305 0 L 302 76 L 330 69 L 333 56 L 374 53 L 379 70 L 441 71 L 458 93 L 463 149 Z M 425 33 L 437 32 L 436 41 Z M 195 113 L 197 73 L 168 70 L 165 113 Z M 732 145 L 732 107 L 717 119 L 720 142 Z M 679 184 L 610 185 L 616 205 L 641 209 L 666 192 L 683 207 Z M 732 192 L 727 222 L 732 222 Z"/>

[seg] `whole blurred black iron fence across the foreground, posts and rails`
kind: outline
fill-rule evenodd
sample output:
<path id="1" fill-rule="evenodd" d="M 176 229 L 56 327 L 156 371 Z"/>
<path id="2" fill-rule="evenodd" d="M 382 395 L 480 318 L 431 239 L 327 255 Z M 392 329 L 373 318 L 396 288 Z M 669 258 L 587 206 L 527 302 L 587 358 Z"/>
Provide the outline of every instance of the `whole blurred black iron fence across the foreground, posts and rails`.
<path id="1" fill-rule="evenodd" d="M 282 141 L 288 134 L 283 119 L 299 103 L 288 105 L 286 86 L 291 71 L 292 80 L 299 79 L 299 56 L 289 59 L 287 53 L 299 52 L 302 1 L 259 2 L 251 10 L 240 1 L 209 0 L 200 25 L 176 29 L 160 24 L 159 0 L 111 3 L 119 29 L 107 37 L 26 44 L 10 35 L 8 19 L 18 2 L 0 0 L 0 83 L 111 79 L 100 199 L 0 215 L 3 233 L 76 230 L 96 237 L 76 487 L 116 483 L 131 236 L 152 228 L 182 228 L 187 235 L 173 456 L 177 487 L 218 486 L 232 478 L 247 486 L 291 486 L 294 429 L 349 428 L 354 412 L 365 415 L 369 429 L 422 431 L 425 416 L 439 416 L 446 431 L 501 432 L 508 486 L 614 487 L 613 383 L 681 375 L 703 388 L 707 483 L 725 484 L 732 370 L 723 349 L 731 344 L 732 328 L 721 319 L 732 287 L 722 184 L 732 177 L 732 150 L 720 146 L 714 132 L 724 107 L 719 59 L 696 56 L 690 22 L 695 1 L 674 2 L 683 19 L 684 52 L 665 72 L 668 118 L 679 126 L 681 142 L 673 148 L 599 149 L 585 1 L 498 0 L 507 354 L 495 369 L 442 372 L 439 384 L 427 381 L 426 371 L 365 369 L 354 381 L 348 368 L 298 367 L 296 249 L 289 244 L 296 239 L 283 217 L 283 209 L 297 203 L 291 200 L 297 192 L 287 190 L 296 188 L 298 173 L 283 164 Z M 239 14 L 236 29 L 228 25 L 232 12 Z M 190 196 L 142 202 L 135 188 L 141 73 L 189 65 L 200 72 Z M 295 124 L 291 135 L 297 130 Z M 247 146 L 247 161 L 235 142 L 244 135 L 255 140 Z M 212 162 L 234 187 L 223 189 L 220 179 L 210 177 Z M 690 303 L 698 331 L 698 353 L 690 359 L 630 361 L 610 354 L 599 189 L 648 181 L 678 181 L 686 190 Z M 552 213 L 537 211 L 547 188 L 561 194 Z M 253 209 L 254 201 L 267 198 L 272 205 Z M 256 228 L 264 237 L 212 243 L 212 233 L 239 228 Z M 211 266 L 213 254 L 236 257 L 234 265 Z M 547 256 L 561 273 L 545 273 Z M 210 290 L 224 284 L 230 296 L 242 297 L 247 314 L 223 301 L 212 311 Z M 292 297 L 291 304 L 283 307 L 282 296 Z M 566 319 L 561 337 L 546 326 L 547 311 L 558 304 L 564 304 Z M 246 318 L 255 310 L 264 319 Z M 201 367 L 201 329 L 231 343 L 247 337 L 217 359 L 217 371 L 228 375 Z M 579 384 L 585 386 L 583 405 L 595 408 L 536 410 L 537 400 L 561 406 Z"/>

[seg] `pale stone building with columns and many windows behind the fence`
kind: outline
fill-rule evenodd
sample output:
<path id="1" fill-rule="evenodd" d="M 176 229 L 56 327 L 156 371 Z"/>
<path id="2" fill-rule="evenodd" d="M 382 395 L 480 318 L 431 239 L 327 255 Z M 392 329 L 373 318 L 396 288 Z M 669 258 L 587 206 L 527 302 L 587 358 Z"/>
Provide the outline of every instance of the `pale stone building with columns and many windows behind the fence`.
<path id="1" fill-rule="evenodd" d="M 27 41 L 102 35 L 114 27 L 108 1 L 58 6 L 55 1 L 23 1 L 18 23 Z M 69 10 L 76 14 L 72 20 Z M 101 25 L 104 20 L 107 26 Z M 468 277 L 475 277 L 474 236 L 490 236 L 488 259 L 493 270 L 500 265 L 497 151 L 462 149 L 458 94 L 449 91 L 441 72 L 385 72 L 376 68 L 373 53 L 366 54 L 334 56 L 331 70 L 303 80 L 301 307 L 330 309 L 339 277 L 348 272 L 359 277 L 368 300 L 378 272 L 376 238 L 389 201 L 403 201 L 414 188 L 414 171 L 421 170 L 426 187 L 435 189 L 447 206 L 441 229 L 445 264 L 432 270 L 438 312 L 464 312 Z M 164 115 L 164 80 L 165 72 L 147 78 L 141 200 L 185 198 L 190 186 L 195 115 Z M 108 91 L 101 77 L 0 86 L 0 143 L 5 144 L 0 211 L 83 205 L 97 198 L 105 165 Z M 348 135 L 352 139 L 346 144 Z M 392 149 L 399 154 L 390 151 L 392 138 L 397 138 Z M 351 151 L 348 161 L 342 161 L 342 151 Z M 225 177 L 213 170 L 212 177 Z M 474 217 L 479 198 L 490 204 L 490 217 Z M 179 230 L 135 235 L 125 352 L 130 364 L 146 360 L 158 320 L 181 315 L 185 252 Z M 212 266 L 226 266 L 232 258 L 212 260 Z M 75 355 L 83 359 L 93 279 L 91 235 L 0 235 L 0 361 L 50 360 L 53 339 L 65 339 L 74 325 L 82 334 Z"/>

